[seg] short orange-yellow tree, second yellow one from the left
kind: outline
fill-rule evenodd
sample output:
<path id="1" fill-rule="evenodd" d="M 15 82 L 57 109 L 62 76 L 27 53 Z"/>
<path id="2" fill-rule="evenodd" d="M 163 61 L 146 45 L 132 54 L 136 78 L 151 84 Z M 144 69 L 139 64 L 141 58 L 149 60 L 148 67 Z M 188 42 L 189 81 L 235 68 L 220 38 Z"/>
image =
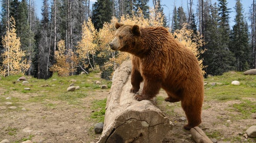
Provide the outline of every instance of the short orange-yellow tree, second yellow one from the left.
<path id="1" fill-rule="evenodd" d="M 78 59 L 74 52 L 71 50 L 66 50 L 65 41 L 60 40 L 57 44 L 58 51 L 55 51 L 56 64 L 50 67 L 50 70 L 57 72 L 61 77 L 67 77 L 70 73 L 76 71 L 76 65 Z"/>

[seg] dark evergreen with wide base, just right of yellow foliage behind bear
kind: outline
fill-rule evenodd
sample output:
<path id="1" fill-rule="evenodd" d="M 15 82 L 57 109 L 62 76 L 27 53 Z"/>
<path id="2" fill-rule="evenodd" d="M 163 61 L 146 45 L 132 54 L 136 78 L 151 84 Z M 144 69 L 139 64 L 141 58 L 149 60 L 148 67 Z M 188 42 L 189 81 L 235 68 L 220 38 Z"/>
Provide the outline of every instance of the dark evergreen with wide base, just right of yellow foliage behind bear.
<path id="1" fill-rule="evenodd" d="M 232 53 L 223 47 L 218 7 L 215 3 L 210 5 L 209 17 L 205 18 L 204 37 L 207 43 L 204 46 L 205 53 L 202 54 L 205 71 L 210 75 L 222 75 L 225 71 L 232 70 Z"/>

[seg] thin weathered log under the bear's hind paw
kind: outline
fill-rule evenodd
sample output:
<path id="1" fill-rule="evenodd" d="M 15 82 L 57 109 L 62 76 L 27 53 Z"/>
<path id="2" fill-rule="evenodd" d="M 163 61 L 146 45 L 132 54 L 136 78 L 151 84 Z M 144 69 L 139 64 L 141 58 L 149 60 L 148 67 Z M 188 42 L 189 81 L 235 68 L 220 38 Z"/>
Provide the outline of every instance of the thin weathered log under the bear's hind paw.
<path id="1" fill-rule="evenodd" d="M 190 129 L 190 133 L 197 143 L 212 143 L 202 129 L 194 127 Z"/>

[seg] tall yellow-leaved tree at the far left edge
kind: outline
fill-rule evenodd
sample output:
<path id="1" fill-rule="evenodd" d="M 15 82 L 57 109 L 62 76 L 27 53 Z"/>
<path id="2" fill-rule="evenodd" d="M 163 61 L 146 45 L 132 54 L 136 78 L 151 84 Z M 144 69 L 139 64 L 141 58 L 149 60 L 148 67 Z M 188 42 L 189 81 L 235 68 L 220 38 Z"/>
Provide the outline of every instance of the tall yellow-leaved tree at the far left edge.
<path id="1" fill-rule="evenodd" d="M 13 17 L 10 19 L 11 29 L 7 28 L 6 35 L 2 37 L 4 53 L 3 65 L 0 67 L 0 74 L 2 76 L 10 76 L 18 73 L 25 73 L 28 70 L 29 64 L 27 59 L 24 59 L 25 52 L 20 49 L 20 40 L 16 35 L 15 20 Z"/>

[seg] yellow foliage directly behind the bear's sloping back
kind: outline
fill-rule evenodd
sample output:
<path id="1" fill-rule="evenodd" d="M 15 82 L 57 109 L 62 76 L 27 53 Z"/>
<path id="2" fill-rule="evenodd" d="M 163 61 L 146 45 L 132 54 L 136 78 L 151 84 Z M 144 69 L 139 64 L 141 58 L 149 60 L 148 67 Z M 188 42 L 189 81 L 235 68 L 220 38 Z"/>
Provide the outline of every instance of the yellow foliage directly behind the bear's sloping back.
<path id="1" fill-rule="evenodd" d="M 189 48 L 197 57 L 200 67 L 202 69 L 203 74 L 205 74 L 205 71 L 203 68 L 205 67 L 203 65 L 203 59 L 199 59 L 200 54 L 204 53 L 205 51 L 199 50 L 200 47 L 202 47 L 205 42 L 203 39 L 203 36 L 199 33 L 194 34 L 193 30 L 187 29 L 188 24 L 184 23 L 182 29 L 176 30 L 173 33 L 173 36 L 177 38 L 182 44 L 184 44 L 187 48 Z"/>

